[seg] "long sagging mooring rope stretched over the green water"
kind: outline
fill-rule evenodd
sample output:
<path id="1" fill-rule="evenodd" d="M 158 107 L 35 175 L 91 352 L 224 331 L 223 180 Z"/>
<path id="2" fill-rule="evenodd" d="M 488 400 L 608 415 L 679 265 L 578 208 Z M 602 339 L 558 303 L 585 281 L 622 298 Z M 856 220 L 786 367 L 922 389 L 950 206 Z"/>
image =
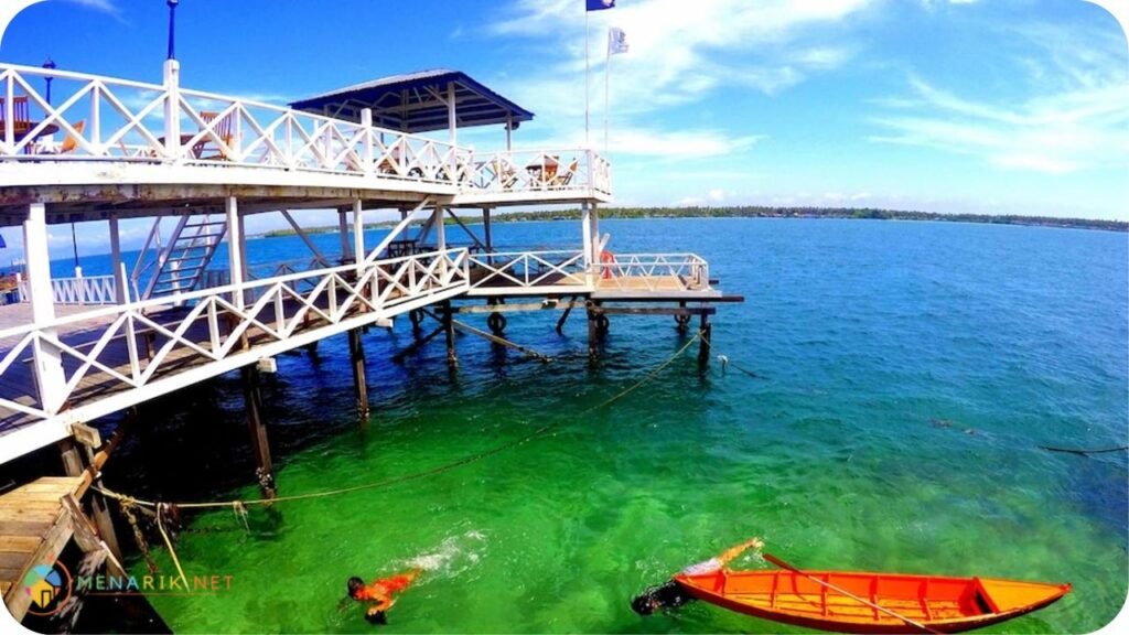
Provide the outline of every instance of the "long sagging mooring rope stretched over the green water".
<path id="1" fill-rule="evenodd" d="M 618 401 L 620 399 L 623 399 L 624 397 L 631 394 L 632 392 L 634 392 L 636 390 L 638 390 L 644 384 L 650 382 L 659 373 L 662 373 L 664 369 L 666 369 L 667 366 L 669 366 L 671 364 L 673 364 L 675 359 L 677 359 L 679 357 L 681 357 L 682 354 L 685 353 L 686 349 L 690 348 L 690 346 L 692 343 L 694 343 L 695 341 L 698 341 L 699 338 L 701 338 L 701 332 L 699 332 L 694 337 L 690 338 L 690 340 L 688 340 L 686 343 L 684 343 L 682 346 L 682 348 L 680 348 L 674 355 L 672 355 L 669 358 L 667 358 L 666 362 L 663 362 L 662 364 L 659 364 L 650 373 L 647 373 L 647 375 L 645 375 L 641 380 L 639 380 L 638 382 L 636 382 L 634 384 L 632 384 L 628 389 L 625 389 L 625 390 L 616 393 L 615 395 L 613 395 L 613 397 L 611 397 L 609 399 L 605 399 L 604 401 L 601 401 L 599 403 L 597 403 L 597 405 L 595 405 L 595 406 L 593 406 L 593 407 L 590 407 L 590 408 L 581 411 L 579 416 L 584 417 L 584 416 L 589 415 L 589 414 L 592 414 L 592 412 L 594 412 L 594 411 L 596 411 L 596 410 L 598 410 L 601 408 L 605 408 L 609 405 L 611 405 L 611 403 L 613 403 L 613 402 L 615 402 L 615 401 Z M 528 442 L 531 442 L 531 441 L 533 441 L 533 440 L 535 440 L 535 438 L 537 438 L 540 436 L 545 435 L 546 433 L 551 432 L 552 429 L 559 427 L 562 423 L 563 423 L 562 420 L 558 420 L 558 421 L 554 421 L 554 423 L 551 423 L 551 424 L 545 424 L 544 426 L 541 426 L 540 428 L 533 430 L 532 433 L 530 433 L 530 434 L 527 434 L 527 435 L 525 435 L 523 437 L 519 437 L 517 440 L 502 443 L 501 445 L 497 445 L 497 446 L 495 446 L 495 447 L 492 447 L 490 450 L 487 450 L 484 452 L 479 452 L 478 454 L 471 454 L 469 456 L 464 456 L 464 458 L 458 459 L 457 461 L 453 461 L 450 463 L 445 463 L 443 466 L 438 466 L 438 467 L 431 468 L 429 470 L 423 470 L 423 471 L 420 471 L 420 472 L 413 472 L 413 473 L 402 475 L 402 476 L 397 476 L 397 477 L 392 477 L 392 478 L 378 480 L 378 481 L 375 481 L 375 482 L 366 482 L 366 484 L 361 484 L 361 485 L 355 485 L 355 486 L 351 486 L 351 487 L 342 487 L 342 488 L 329 489 L 329 490 L 324 490 L 324 492 L 310 492 L 310 493 L 307 493 L 307 494 L 295 494 L 295 495 L 290 495 L 290 496 L 278 496 L 275 498 L 255 498 L 255 499 L 251 499 L 251 501 L 224 501 L 224 502 L 208 502 L 208 503 L 176 503 L 175 505 L 176 505 L 176 507 L 180 507 L 182 510 L 201 510 L 201 508 L 213 508 L 213 507 L 230 507 L 230 508 L 234 508 L 234 510 L 238 510 L 238 506 L 246 506 L 246 505 L 270 505 L 270 504 L 273 504 L 273 503 L 287 503 L 287 502 L 290 502 L 290 501 L 308 501 L 308 499 L 312 499 L 312 498 L 325 498 L 325 497 L 329 497 L 329 496 L 339 496 L 339 495 L 342 495 L 342 494 L 351 494 L 353 492 L 361 492 L 361 490 L 366 490 L 366 489 L 378 489 L 378 488 L 383 488 L 383 487 L 390 487 L 390 486 L 393 486 L 393 485 L 400 485 L 402 482 L 409 482 L 409 481 L 419 480 L 419 479 L 432 477 L 432 476 L 436 476 L 436 475 L 440 475 L 443 472 L 447 472 L 447 471 L 454 470 L 456 468 L 461 468 L 463 466 L 467 466 L 470 463 L 474 463 L 474 462 L 481 461 L 483 459 L 493 456 L 496 454 L 500 454 L 500 453 L 502 453 L 502 452 L 505 452 L 507 450 L 517 447 L 518 445 L 524 445 L 525 443 L 528 443 Z M 113 492 L 111 489 L 106 489 L 105 487 L 94 487 L 94 486 L 91 486 L 90 489 L 94 489 L 96 492 L 100 492 L 102 494 L 104 494 L 106 496 L 110 496 L 111 498 L 115 498 L 117 501 L 130 501 L 131 504 L 133 504 L 133 505 L 140 505 L 140 506 L 146 506 L 146 507 L 158 507 L 159 505 L 161 505 L 160 503 L 156 503 L 156 502 L 152 502 L 152 501 L 142 501 L 142 499 L 139 499 L 139 498 L 131 498 L 131 497 L 125 496 L 123 494 L 119 494 L 119 493 Z M 158 527 L 159 527 L 159 522 L 160 522 L 159 515 L 158 515 L 157 520 L 158 520 Z M 163 533 L 164 533 L 164 530 L 163 530 Z M 167 541 L 167 539 L 166 539 L 166 541 Z M 174 556 L 174 559 L 175 559 L 175 556 Z"/>

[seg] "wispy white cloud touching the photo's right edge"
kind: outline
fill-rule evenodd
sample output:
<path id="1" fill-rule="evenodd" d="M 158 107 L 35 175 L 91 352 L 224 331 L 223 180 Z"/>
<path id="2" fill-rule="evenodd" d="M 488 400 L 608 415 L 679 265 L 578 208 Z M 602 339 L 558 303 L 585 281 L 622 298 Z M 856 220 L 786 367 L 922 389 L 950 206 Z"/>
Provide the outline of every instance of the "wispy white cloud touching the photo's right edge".
<path id="1" fill-rule="evenodd" d="M 911 96 L 878 99 L 875 142 L 924 146 L 1045 174 L 1129 165 L 1129 73 L 1123 47 L 1049 25 L 1014 32 L 1039 50 L 1015 60 L 1025 94 L 971 98 L 911 77 Z"/>

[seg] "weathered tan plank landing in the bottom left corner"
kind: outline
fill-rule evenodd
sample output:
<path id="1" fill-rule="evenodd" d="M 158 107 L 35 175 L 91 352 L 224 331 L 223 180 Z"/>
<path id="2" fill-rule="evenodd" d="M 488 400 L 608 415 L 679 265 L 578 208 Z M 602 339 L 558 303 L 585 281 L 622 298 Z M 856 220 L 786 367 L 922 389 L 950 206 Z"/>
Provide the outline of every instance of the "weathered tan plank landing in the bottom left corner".
<path id="1" fill-rule="evenodd" d="M 32 603 L 24 576 L 36 565 L 53 565 L 75 528 L 62 498 L 82 495 L 86 479 L 43 477 L 0 495 L 0 594 L 16 621 Z"/>

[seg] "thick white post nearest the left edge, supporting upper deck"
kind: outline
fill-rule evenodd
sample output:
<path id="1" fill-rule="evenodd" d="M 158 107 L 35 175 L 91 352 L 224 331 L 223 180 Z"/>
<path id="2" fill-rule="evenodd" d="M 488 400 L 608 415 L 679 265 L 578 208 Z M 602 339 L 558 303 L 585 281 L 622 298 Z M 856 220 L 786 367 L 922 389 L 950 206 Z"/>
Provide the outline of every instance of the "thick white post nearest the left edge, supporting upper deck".
<path id="1" fill-rule="evenodd" d="M 55 297 L 51 289 L 51 256 L 47 253 L 47 208 L 43 203 L 28 206 L 24 221 L 24 259 L 27 261 L 27 296 L 32 303 L 32 323 L 42 330 L 35 341 L 35 383 L 44 410 L 58 412 L 67 399 L 59 349 L 43 340 L 55 339 L 55 330 L 45 328 L 55 319 Z"/>

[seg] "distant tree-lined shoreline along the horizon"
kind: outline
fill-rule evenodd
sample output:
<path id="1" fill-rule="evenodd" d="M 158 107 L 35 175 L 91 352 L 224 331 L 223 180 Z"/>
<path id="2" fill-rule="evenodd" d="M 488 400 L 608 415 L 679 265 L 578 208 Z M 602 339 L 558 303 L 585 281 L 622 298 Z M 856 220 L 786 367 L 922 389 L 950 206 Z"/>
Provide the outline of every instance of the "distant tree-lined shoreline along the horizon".
<path id="1" fill-rule="evenodd" d="M 478 216 L 460 217 L 466 224 L 480 224 Z M 1021 225 L 1027 227 L 1058 227 L 1071 229 L 1099 229 L 1104 232 L 1129 232 L 1129 223 L 1122 220 L 1095 220 L 1089 218 L 1053 218 L 1049 216 L 996 216 L 989 214 L 938 214 L 933 211 L 904 211 L 873 208 L 812 208 L 812 207 L 609 207 L 599 210 L 601 219 L 645 218 L 835 218 L 864 220 L 936 220 L 944 223 L 980 223 L 988 225 Z M 514 211 L 497 214 L 495 223 L 530 223 L 537 220 L 579 220 L 579 209 Z M 453 219 L 446 220 L 453 225 Z M 395 221 L 365 225 L 368 229 L 394 227 Z M 309 227 L 307 234 L 333 234 L 336 226 Z M 277 238 L 294 236 L 294 229 L 274 229 L 261 236 Z"/>

